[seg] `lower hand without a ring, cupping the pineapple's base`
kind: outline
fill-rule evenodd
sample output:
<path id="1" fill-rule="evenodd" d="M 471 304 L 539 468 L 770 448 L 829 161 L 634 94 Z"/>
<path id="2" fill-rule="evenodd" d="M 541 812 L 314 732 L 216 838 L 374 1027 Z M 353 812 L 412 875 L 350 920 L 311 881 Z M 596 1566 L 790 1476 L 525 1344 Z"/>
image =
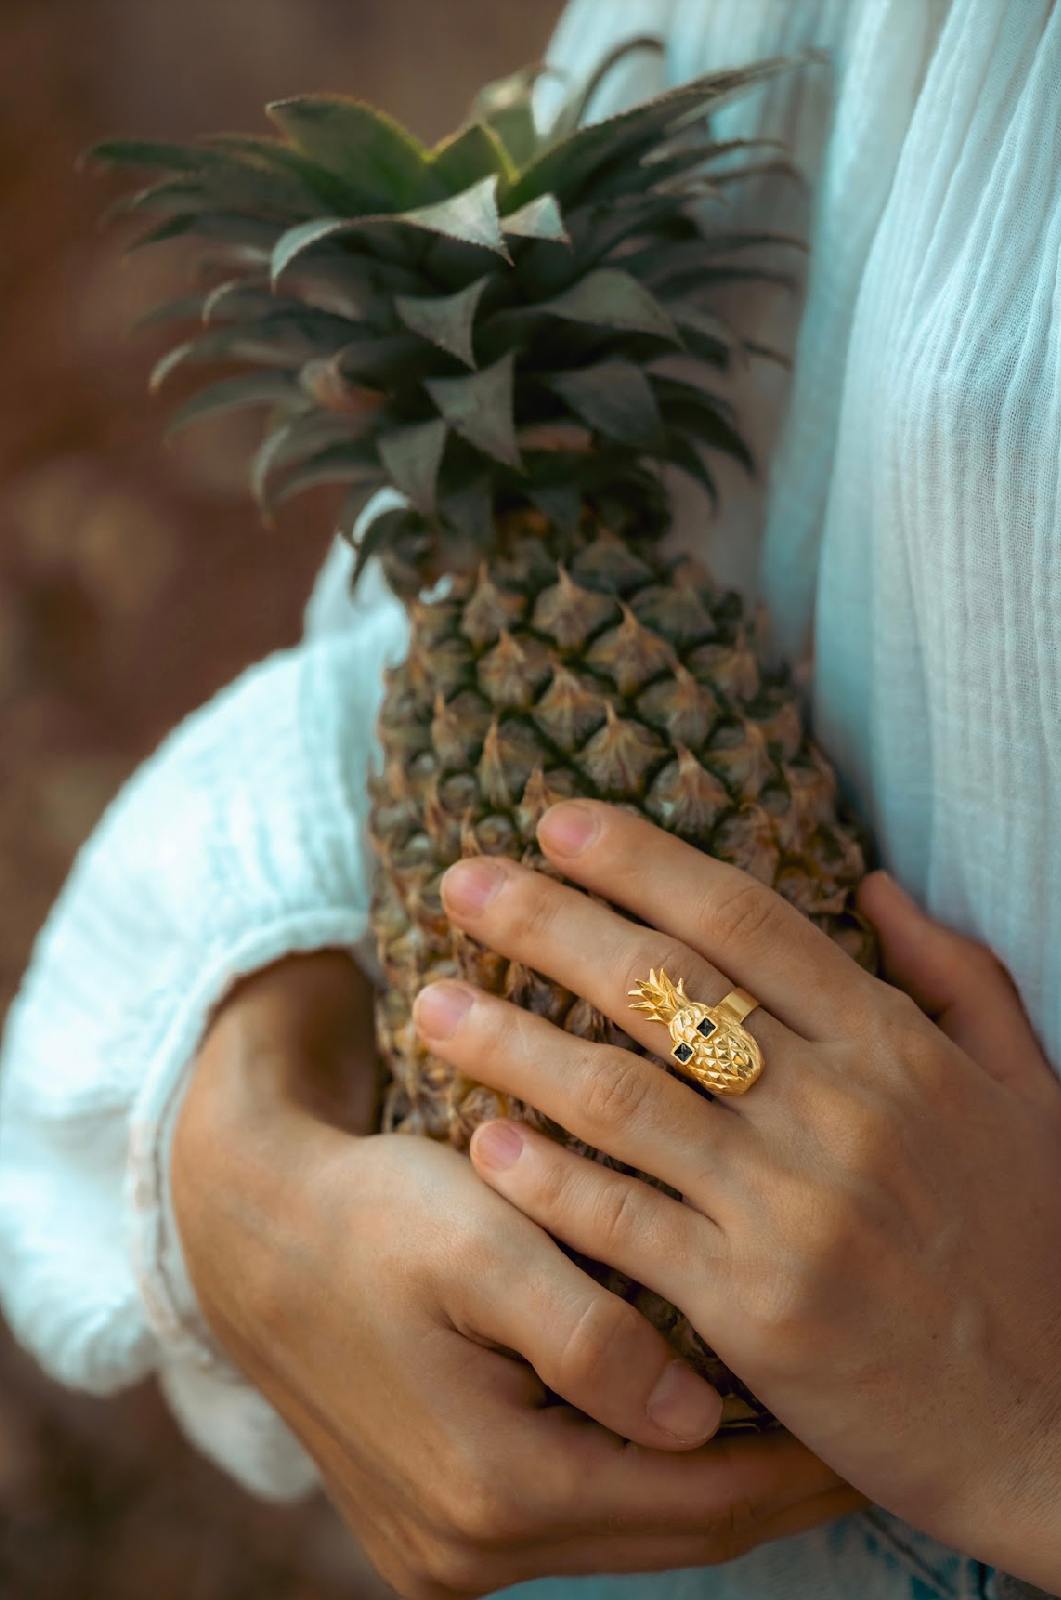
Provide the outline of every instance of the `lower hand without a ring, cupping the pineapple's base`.
<path id="1" fill-rule="evenodd" d="M 704 1446 L 714 1390 L 454 1150 L 357 1138 L 371 1059 L 346 955 L 240 984 L 173 1195 L 218 1339 L 398 1594 L 703 1565 L 859 1504 L 792 1438 Z"/>

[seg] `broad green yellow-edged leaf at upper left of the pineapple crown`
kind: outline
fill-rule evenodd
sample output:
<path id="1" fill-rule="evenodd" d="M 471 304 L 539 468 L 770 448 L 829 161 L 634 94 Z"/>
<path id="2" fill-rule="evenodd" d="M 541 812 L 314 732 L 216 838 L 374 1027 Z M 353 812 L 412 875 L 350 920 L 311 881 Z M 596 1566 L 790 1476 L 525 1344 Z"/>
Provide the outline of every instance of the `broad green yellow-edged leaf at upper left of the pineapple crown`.
<path id="1" fill-rule="evenodd" d="M 438 195 L 424 146 L 392 117 L 344 94 L 302 94 L 266 110 L 291 144 L 334 173 L 368 210 L 402 211 Z"/>

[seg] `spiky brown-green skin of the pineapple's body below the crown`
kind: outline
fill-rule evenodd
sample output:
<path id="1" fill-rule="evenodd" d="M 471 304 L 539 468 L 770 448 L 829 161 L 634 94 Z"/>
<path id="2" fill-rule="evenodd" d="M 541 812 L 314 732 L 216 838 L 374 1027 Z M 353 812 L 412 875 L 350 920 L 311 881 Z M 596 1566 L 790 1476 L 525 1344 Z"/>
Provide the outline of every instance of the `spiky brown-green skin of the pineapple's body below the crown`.
<path id="1" fill-rule="evenodd" d="M 791 680 L 760 669 L 739 595 L 693 563 L 634 550 L 591 509 L 567 539 L 536 512 L 514 514 L 502 549 L 490 573 L 410 603 L 410 651 L 387 674 L 370 824 L 384 973 L 378 1032 L 392 1077 L 384 1126 L 464 1150 L 478 1123 L 520 1117 L 610 1162 L 533 1107 L 469 1083 L 419 1042 L 418 990 L 459 976 L 581 1038 L 640 1053 L 578 995 L 450 926 L 445 869 L 499 854 L 552 872 L 538 819 L 562 797 L 594 795 L 773 885 L 872 966 L 872 938 L 851 904 L 863 850 Z M 679 1310 L 584 1264 L 722 1390 L 727 1426 L 770 1422 Z"/>

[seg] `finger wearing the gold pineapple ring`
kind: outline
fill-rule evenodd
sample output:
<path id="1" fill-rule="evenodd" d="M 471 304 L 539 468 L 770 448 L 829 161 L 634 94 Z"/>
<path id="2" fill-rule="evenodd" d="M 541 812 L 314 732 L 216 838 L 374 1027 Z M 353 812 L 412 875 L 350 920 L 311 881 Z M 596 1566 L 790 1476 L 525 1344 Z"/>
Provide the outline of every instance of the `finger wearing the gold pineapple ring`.
<path id="1" fill-rule="evenodd" d="M 515 861 L 458 861 L 442 880 L 442 896 L 450 918 L 480 942 L 573 989 L 659 1054 L 669 1054 L 671 1038 L 661 1022 L 631 1008 L 629 990 L 639 981 L 663 966 L 675 982 L 685 981 L 695 1000 L 709 1005 L 733 987 L 677 939 L 637 926 L 610 906 Z M 795 1042 L 762 1006 L 744 1026 L 771 1066 Z"/>

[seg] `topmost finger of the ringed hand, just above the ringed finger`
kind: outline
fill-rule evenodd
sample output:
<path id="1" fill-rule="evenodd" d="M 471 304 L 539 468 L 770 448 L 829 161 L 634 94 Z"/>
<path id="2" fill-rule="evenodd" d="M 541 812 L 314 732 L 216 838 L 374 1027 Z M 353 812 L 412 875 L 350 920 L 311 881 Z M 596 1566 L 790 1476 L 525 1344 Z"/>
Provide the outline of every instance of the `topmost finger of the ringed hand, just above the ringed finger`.
<path id="1" fill-rule="evenodd" d="M 552 806 L 543 850 L 567 877 L 714 962 L 810 1040 L 835 1040 L 872 1005 L 872 979 L 747 872 L 595 800 Z"/>

